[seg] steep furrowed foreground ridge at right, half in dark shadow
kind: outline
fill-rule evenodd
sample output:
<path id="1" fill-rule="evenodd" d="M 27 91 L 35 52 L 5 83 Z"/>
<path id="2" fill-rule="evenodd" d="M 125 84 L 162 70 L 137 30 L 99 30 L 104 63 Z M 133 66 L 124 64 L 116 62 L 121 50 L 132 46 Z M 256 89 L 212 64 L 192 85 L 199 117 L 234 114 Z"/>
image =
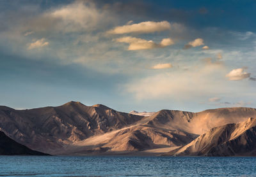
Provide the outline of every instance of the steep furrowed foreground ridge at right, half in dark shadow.
<path id="1" fill-rule="evenodd" d="M 167 155 L 256 156 L 256 118 L 214 127 Z"/>

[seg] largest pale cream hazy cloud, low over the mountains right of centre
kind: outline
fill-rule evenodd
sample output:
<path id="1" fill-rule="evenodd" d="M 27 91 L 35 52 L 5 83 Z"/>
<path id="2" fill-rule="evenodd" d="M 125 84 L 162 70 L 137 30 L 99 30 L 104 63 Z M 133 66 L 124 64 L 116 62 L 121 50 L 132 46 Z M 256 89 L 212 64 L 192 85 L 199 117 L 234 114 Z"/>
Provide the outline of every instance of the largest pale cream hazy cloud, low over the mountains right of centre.
<path id="1" fill-rule="evenodd" d="M 216 73 L 218 69 L 218 73 Z M 187 100 L 196 97 L 208 97 L 211 94 L 223 94 L 218 85 L 225 83 L 220 80 L 225 72 L 220 66 L 193 67 L 188 71 L 168 71 L 145 76 L 129 81 L 122 88 L 125 94 L 130 93 L 139 101 L 147 99 L 175 98 Z M 220 76 L 218 76 L 220 75 Z M 220 78 L 220 79 L 219 79 Z M 229 89 L 229 88 L 227 88 Z"/>

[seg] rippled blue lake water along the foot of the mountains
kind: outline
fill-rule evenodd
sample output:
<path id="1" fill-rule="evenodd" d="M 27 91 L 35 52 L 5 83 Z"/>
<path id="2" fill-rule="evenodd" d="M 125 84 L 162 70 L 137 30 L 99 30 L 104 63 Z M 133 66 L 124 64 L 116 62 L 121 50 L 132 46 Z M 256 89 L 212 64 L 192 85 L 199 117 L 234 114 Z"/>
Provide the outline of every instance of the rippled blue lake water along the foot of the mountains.
<path id="1" fill-rule="evenodd" d="M 0 176 L 256 176 L 256 158 L 0 156 Z"/>

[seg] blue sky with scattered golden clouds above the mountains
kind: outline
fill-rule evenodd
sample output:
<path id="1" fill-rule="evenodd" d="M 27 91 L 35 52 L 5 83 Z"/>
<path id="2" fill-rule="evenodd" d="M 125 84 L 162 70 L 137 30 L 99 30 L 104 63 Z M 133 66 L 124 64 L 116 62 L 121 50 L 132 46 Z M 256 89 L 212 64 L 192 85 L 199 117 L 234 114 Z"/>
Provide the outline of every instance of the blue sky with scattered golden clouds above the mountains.
<path id="1" fill-rule="evenodd" d="M 0 105 L 256 107 L 256 1 L 0 1 Z"/>

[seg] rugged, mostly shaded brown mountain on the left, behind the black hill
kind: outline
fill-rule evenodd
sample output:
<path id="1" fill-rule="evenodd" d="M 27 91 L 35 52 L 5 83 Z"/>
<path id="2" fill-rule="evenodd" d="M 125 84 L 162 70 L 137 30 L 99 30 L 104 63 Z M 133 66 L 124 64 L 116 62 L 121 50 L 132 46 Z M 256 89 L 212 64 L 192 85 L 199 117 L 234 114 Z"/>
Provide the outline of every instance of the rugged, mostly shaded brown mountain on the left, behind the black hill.
<path id="1" fill-rule="evenodd" d="M 141 118 L 100 104 L 85 106 L 73 101 L 32 110 L 0 107 L 1 130 L 22 145 L 45 153 L 95 134 L 121 129 Z"/>

